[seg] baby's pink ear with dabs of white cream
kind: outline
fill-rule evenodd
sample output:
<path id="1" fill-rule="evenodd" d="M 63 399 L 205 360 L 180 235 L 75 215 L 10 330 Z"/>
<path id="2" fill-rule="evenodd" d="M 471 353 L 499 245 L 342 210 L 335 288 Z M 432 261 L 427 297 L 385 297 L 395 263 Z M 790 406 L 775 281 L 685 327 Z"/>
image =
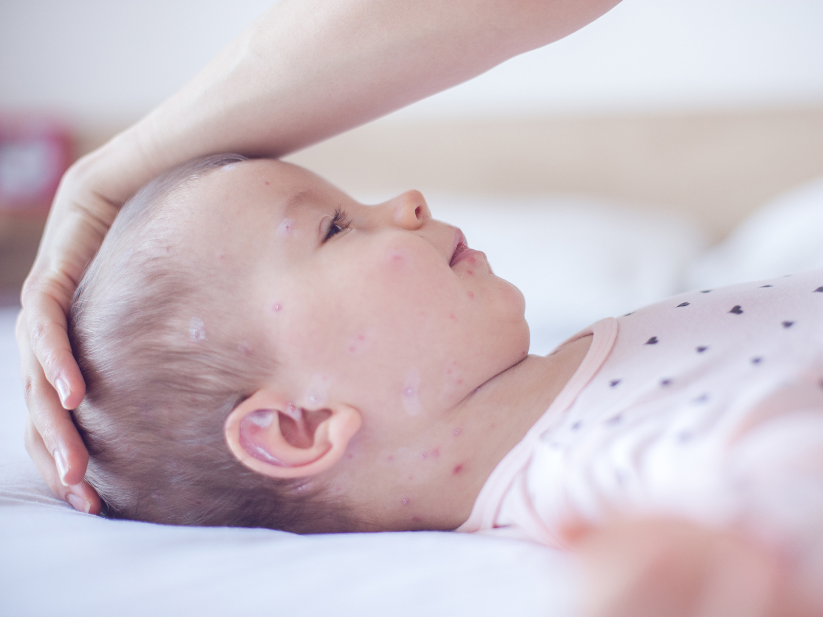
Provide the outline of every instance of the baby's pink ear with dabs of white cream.
<path id="1" fill-rule="evenodd" d="M 339 461 L 360 421 L 352 406 L 304 410 L 263 388 L 235 407 L 224 431 L 232 454 L 249 469 L 272 478 L 300 478 Z"/>

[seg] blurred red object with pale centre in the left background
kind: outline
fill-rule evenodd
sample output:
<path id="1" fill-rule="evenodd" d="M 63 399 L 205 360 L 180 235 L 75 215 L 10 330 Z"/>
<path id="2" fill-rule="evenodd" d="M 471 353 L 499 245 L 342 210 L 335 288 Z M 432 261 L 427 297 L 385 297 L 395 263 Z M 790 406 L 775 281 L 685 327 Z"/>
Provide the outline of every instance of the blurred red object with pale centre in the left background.
<path id="1" fill-rule="evenodd" d="M 72 143 L 52 117 L 0 114 L 0 216 L 45 216 L 72 162 Z"/>

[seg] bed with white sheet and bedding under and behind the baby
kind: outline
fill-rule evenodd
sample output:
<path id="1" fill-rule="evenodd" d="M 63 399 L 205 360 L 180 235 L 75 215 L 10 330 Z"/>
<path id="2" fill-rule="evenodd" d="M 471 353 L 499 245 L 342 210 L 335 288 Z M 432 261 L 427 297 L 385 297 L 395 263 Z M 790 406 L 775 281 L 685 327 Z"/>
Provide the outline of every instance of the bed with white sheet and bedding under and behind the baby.
<path id="1" fill-rule="evenodd" d="M 333 153 L 342 146 L 324 147 Z M 311 165 L 312 157 L 323 168 L 322 152 L 295 159 Z M 823 173 L 823 165 L 816 169 Z M 334 173 L 365 199 L 391 188 L 351 188 L 353 179 Z M 495 272 L 523 290 L 532 353 L 545 354 L 597 318 L 667 295 L 823 267 L 823 178 L 812 175 L 760 209 L 748 207 L 754 213 L 733 225 L 725 214 L 711 223 L 663 199 L 655 205 L 626 195 L 502 189 L 478 197 L 436 182 L 423 188 L 435 216 L 461 226 Z M 50 494 L 22 445 L 15 316 L 15 308 L 0 309 L 0 614 L 576 614 L 574 560 L 517 540 L 439 532 L 295 536 L 73 511 Z"/>

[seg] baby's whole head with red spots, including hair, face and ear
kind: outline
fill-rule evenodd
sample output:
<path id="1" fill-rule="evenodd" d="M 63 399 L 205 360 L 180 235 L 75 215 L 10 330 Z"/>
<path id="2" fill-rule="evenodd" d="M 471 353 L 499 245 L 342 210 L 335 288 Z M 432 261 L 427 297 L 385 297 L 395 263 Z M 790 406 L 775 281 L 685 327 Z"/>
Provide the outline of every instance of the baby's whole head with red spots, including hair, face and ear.
<path id="1" fill-rule="evenodd" d="M 459 474 L 462 401 L 528 349 L 522 295 L 420 193 L 237 155 L 123 206 L 70 336 L 110 514 L 294 531 L 415 527 L 402 495 Z"/>

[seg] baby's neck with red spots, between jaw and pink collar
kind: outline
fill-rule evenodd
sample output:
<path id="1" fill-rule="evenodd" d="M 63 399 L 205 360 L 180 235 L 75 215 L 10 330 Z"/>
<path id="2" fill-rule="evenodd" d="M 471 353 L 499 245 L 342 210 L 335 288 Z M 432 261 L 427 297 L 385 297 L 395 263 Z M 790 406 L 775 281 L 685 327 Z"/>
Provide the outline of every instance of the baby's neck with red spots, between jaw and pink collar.
<path id="1" fill-rule="evenodd" d="M 527 356 L 477 388 L 448 420 L 422 435 L 417 449 L 423 460 L 415 456 L 397 468 L 376 466 L 374 482 L 368 483 L 372 490 L 365 490 L 361 503 L 377 517 L 378 527 L 450 530 L 463 524 L 495 466 L 546 412 L 591 341 L 592 336 L 584 336 L 552 355 Z M 449 443 L 432 448 L 444 435 L 450 436 Z M 436 464 L 426 464 L 429 457 L 436 457 Z"/>

